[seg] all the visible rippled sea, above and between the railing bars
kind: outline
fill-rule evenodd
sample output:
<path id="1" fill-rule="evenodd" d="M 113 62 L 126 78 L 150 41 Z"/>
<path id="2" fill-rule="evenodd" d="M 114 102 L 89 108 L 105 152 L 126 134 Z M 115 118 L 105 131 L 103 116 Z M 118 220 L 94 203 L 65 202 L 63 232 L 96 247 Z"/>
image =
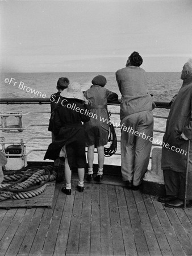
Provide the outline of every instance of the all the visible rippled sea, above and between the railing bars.
<path id="1" fill-rule="evenodd" d="M 49 98 L 52 93 L 57 92 L 56 84 L 59 77 L 68 77 L 72 82 L 79 82 L 82 91 L 90 88 L 91 80 L 97 76 L 103 75 L 107 79 L 106 88 L 118 94 L 121 94 L 115 79 L 114 72 L 69 72 L 69 73 L 1 73 L 0 74 L 0 97 L 1 98 Z M 147 86 L 149 93 L 153 94 L 154 101 L 170 102 L 178 90 L 181 88 L 181 72 L 147 72 Z M 25 87 L 24 87 L 25 86 Z M 34 93 L 38 92 L 38 96 Z M 36 93 L 37 94 L 37 93 Z M 108 111 L 116 114 L 111 115 L 111 120 L 120 123 L 119 111 L 120 106 L 108 106 Z M 50 106 L 49 104 L 31 104 L 31 105 L 7 105 L 0 104 L 2 113 L 19 113 L 26 114 L 22 117 L 23 127 L 28 127 L 22 133 L 5 133 L 0 131 L 0 137 L 5 138 L 6 146 L 13 143 L 19 143 L 20 139 L 26 142 L 26 151 L 30 152 L 27 156 L 28 161 L 42 161 L 45 150 L 51 143 L 51 133 L 47 130 Z M 39 113 L 47 112 L 47 113 Z M 154 109 L 155 115 L 167 117 L 168 109 Z M 17 123 L 15 117 L 7 118 L 7 125 Z M 33 126 L 31 126 L 33 125 Z M 41 126 L 42 125 L 42 126 Z M 165 130 L 166 119 L 155 118 L 155 130 Z M 116 135 L 120 140 L 120 129 L 116 129 Z M 162 133 L 155 132 L 154 138 L 162 140 Z M 48 137 L 39 139 L 36 137 Z M 36 151 L 39 150 L 39 151 Z M 120 154 L 120 143 L 118 143 L 117 152 Z M 112 160 L 111 160 L 112 159 Z M 97 162 L 97 161 L 96 161 Z M 111 156 L 106 163 L 120 165 L 120 156 Z"/>

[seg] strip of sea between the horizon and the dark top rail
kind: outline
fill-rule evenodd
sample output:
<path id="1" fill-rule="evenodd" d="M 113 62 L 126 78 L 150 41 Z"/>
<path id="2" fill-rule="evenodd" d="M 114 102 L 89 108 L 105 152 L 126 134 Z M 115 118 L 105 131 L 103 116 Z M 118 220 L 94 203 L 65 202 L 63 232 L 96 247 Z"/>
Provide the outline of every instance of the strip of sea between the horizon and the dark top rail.
<path id="1" fill-rule="evenodd" d="M 38 90 L 46 97 L 56 91 L 56 84 L 59 77 L 68 77 L 70 81 L 79 82 L 82 86 L 82 90 L 87 90 L 91 86 L 91 80 L 94 76 L 103 75 L 107 79 L 106 88 L 116 92 L 121 97 L 118 85 L 115 78 L 115 72 L 3 72 L 0 74 L 1 84 L 1 98 L 27 98 L 31 95 L 26 89 L 22 90 L 18 88 L 20 82 L 25 85 L 26 88 Z M 169 101 L 173 94 L 176 94 L 182 85 L 180 79 L 181 72 L 146 72 L 147 80 L 145 85 L 147 86 L 149 93 L 153 94 L 155 101 Z M 11 79 L 12 81 L 5 82 L 5 79 Z M 15 82 L 15 85 L 14 85 Z M 22 86 L 20 86 L 22 87 Z"/>

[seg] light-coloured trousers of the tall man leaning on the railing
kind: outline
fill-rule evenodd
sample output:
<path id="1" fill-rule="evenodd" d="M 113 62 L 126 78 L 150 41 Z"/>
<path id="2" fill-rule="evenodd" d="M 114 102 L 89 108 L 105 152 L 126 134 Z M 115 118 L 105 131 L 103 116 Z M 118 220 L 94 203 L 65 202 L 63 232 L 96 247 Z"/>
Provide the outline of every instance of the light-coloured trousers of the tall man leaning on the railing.
<path id="1" fill-rule="evenodd" d="M 121 122 L 123 181 L 140 185 L 147 171 L 153 141 L 153 113 L 146 110 L 128 115 Z"/>

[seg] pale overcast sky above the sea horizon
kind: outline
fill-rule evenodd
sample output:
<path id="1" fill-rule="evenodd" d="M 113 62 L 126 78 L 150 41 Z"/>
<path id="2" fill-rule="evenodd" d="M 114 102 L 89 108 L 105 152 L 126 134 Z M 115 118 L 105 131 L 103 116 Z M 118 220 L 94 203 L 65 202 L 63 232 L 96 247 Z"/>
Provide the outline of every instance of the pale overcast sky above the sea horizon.
<path id="1" fill-rule="evenodd" d="M 145 71 L 192 57 L 192 1 L 1 1 L 1 71 L 115 72 L 137 51 Z"/>

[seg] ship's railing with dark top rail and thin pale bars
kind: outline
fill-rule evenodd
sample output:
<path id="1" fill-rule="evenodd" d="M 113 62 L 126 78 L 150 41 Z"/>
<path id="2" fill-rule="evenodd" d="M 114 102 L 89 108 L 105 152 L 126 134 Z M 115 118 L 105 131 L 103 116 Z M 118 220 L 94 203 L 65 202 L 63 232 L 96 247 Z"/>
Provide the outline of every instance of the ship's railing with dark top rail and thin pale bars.
<path id="1" fill-rule="evenodd" d="M 39 99 L 39 98 L 18 98 L 18 99 L 8 99 L 8 98 L 2 98 L 0 99 L 0 104 L 50 104 L 50 101 L 48 98 L 45 98 L 45 99 Z M 156 104 L 156 108 L 164 108 L 164 109 L 169 109 L 169 102 L 162 102 L 162 101 L 155 101 L 155 104 Z M 108 106 L 119 106 L 120 105 L 120 101 L 116 101 L 116 102 L 108 102 L 107 104 Z M 50 114 L 51 112 L 50 111 L 44 111 L 44 112 L 27 112 L 27 113 L 22 113 L 20 112 L 18 115 L 19 115 L 19 118 L 21 119 L 22 117 L 26 116 L 26 115 L 29 115 L 29 114 Z M 111 115 L 119 115 L 118 112 L 111 112 Z M 15 116 L 15 113 L 0 113 L 0 116 L 1 116 L 1 120 L 3 117 L 9 117 L 9 116 Z M 167 119 L 167 117 L 164 117 L 162 115 L 153 115 L 154 118 L 162 118 L 162 119 Z M 3 124 L 3 125 L 2 125 Z M 22 132 L 23 130 L 27 130 L 30 126 L 47 126 L 48 127 L 48 124 L 47 123 L 41 123 L 41 124 L 34 124 L 34 123 L 31 123 L 29 125 L 27 125 L 26 127 L 22 127 L 22 122 L 20 122 L 20 127 L 18 125 L 18 127 L 11 127 L 11 130 L 15 130 L 15 131 L 20 131 Z M 120 127 L 115 127 L 115 129 L 120 129 Z M 10 127 L 5 127 L 5 123 L 1 123 L 1 126 L 0 126 L 0 130 L 2 131 L 9 131 L 10 130 Z M 162 130 L 156 130 L 154 129 L 153 130 L 154 132 L 157 132 L 157 133 L 165 133 L 165 131 L 162 131 Z M 28 142 L 32 141 L 33 139 L 51 139 L 51 137 L 31 137 L 31 138 L 28 138 L 26 141 L 23 141 L 23 139 L 20 139 L 20 143 L 12 143 L 10 141 L 7 141 L 5 142 L 5 138 L 4 137 L 1 137 L 1 144 L 2 144 L 2 150 L 5 152 L 5 144 L 18 144 L 18 145 L 21 145 L 22 147 L 24 147 Z M 118 139 L 117 142 L 120 142 L 120 140 Z M 162 147 L 161 144 L 156 144 L 156 143 L 152 143 L 152 146 L 157 146 L 157 147 Z M 28 152 L 24 152 L 24 150 L 22 150 L 22 153 L 21 154 L 6 154 L 6 156 L 21 156 L 21 157 L 24 157 L 24 156 L 28 156 L 29 154 L 31 154 L 31 152 L 34 152 L 34 151 L 46 151 L 47 148 L 36 148 L 36 149 L 32 149 Z M 97 153 L 97 151 L 95 151 L 95 153 Z M 120 153 L 115 153 L 115 155 L 121 155 Z"/>

